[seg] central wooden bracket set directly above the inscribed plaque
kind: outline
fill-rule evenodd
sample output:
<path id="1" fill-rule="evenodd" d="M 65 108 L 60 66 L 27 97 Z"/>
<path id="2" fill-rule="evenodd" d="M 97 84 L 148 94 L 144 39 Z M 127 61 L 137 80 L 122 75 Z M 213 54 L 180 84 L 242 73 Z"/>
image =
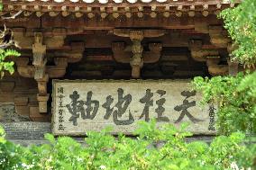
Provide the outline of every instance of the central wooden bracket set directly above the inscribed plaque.
<path id="1" fill-rule="evenodd" d="M 115 29 L 114 35 L 129 37 L 132 41 L 131 47 L 125 47 L 124 42 L 112 43 L 112 50 L 115 61 L 120 63 L 130 63 L 132 67 L 132 78 L 140 78 L 143 64 L 158 62 L 162 49 L 161 43 L 150 43 L 150 51 L 143 51 L 143 38 L 160 37 L 164 34 L 165 30 Z"/>

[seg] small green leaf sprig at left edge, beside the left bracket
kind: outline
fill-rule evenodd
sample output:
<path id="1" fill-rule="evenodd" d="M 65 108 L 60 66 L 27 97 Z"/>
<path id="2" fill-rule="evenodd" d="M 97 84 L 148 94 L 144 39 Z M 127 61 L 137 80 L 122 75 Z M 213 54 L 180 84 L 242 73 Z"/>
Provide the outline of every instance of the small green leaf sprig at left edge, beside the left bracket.
<path id="1" fill-rule="evenodd" d="M 14 61 L 8 61 L 6 59 L 19 56 L 20 53 L 14 49 L 0 49 L 0 78 L 3 78 L 5 71 L 8 71 L 10 74 L 14 73 Z"/>

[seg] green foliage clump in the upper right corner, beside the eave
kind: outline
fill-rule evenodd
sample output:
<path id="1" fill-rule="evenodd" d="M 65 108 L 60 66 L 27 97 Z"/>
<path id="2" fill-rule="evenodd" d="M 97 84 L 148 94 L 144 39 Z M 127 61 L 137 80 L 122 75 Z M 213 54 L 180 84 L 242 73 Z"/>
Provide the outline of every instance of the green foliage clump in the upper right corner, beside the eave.
<path id="1" fill-rule="evenodd" d="M 238 49 L 233 55 L 242 64 L 254 67 L 256 64 L 256 1 L 243 0 L 235 8 L 220 13 L 227 29 Z"/>

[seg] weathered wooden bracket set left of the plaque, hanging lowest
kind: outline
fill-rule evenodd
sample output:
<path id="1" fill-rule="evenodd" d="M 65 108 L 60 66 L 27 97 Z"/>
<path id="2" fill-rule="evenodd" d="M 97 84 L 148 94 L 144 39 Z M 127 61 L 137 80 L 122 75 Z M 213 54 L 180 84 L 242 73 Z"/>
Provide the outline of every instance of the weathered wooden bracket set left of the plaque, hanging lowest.
<path id="1" fill-rule="evenodd" d="M 55 39 L 55 38 L 53 38 Z M 48 41 L 51 41 L 48 39 Z M 39 112 L 47 113 L 47 102 L 50 94 L 47 92 L 49 78 L 59 78 L 66 74 L 69 62 L 78 62 L 83 56 L 84 45 L 80 42 L 71 43 L 71 50 L 47 53 L 48 45 L 43 45 L 41 32 L 35 32 L 32 44 L 32 65 L 29 65 L 30 58 L 16 58 L 17 71 L 20 76 L 34 78 L 38 84 L 37 101 Z M 53 56 L 55 66 L 47 66 L 47 57 Z"/>

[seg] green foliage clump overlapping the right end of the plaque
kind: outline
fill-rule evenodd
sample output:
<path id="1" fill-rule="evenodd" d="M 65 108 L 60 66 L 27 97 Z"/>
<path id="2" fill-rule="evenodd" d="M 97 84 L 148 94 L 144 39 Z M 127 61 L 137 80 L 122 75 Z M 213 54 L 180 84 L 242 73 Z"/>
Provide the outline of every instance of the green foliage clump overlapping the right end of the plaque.
<path id="1" fill-rule="evenodd" d="M 193 84 L 203 94 L 202 103 L 218 105 L 216 124 L 220 133 L 256 133 L 256 72 L 211 79 L 195 77 Z"/>

